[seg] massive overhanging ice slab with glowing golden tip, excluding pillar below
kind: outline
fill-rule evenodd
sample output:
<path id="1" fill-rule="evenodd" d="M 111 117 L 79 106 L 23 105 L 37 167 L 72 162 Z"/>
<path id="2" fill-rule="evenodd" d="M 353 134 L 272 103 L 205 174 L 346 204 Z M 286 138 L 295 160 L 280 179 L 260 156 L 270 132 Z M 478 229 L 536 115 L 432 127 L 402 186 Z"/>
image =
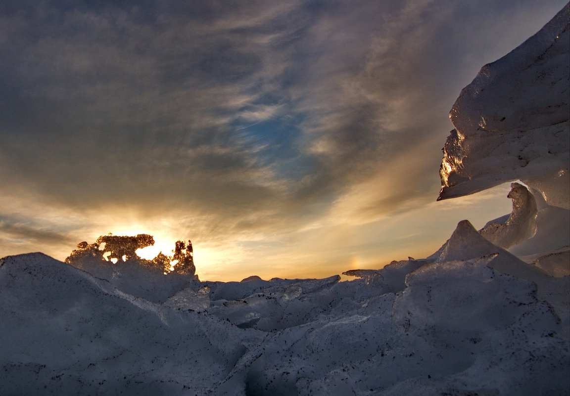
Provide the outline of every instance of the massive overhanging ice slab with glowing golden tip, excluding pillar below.
<path id="1" fill-rule="evenodd" d="M 519 179 L 570 209 L 569 8 L 463 88 L 450 112 L 439 199 Z"/>

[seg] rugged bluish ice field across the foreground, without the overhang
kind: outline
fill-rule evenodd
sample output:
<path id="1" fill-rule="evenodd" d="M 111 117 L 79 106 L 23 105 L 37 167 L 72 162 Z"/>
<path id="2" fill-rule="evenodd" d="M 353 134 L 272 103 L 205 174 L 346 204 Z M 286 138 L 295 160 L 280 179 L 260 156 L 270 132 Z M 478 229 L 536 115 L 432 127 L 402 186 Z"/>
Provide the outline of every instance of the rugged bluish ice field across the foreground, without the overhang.
<path id="1" fill-rule="evenodd" d="M 483 240 L 477 258 L 394 262 L 373 281 L 203 282 L 163 304 L 43 254 L 7 257 L 0 393 L 563 394 L 568 277 L 538 298 L 491 268 L 501 253 L 479 257 L 467 225 L 455 234 Z"/>

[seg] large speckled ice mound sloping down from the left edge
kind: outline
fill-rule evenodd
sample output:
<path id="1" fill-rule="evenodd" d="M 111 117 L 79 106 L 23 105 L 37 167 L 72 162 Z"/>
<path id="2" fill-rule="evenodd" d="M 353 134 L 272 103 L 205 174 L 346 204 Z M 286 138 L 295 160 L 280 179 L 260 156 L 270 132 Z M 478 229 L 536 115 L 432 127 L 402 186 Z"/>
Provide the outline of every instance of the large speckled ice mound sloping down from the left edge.
<path id="1" fill-rule="evenodd" d="M 42 254 L 2 259 L 0 316 L 6 395 L 202 394 L 241 350 L 230 324 L 176 315 Z"/>

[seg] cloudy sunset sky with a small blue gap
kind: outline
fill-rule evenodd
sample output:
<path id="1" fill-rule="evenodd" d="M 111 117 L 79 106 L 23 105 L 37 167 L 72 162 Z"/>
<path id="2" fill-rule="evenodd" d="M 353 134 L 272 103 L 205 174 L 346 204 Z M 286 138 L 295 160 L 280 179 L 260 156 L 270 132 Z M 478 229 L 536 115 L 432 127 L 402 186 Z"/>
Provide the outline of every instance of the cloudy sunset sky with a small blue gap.
<path id="1" fill-rule="evenodd" d="M 202 280 L 435 252 L 502 185 L 435 202 L 449 111 L 558 0 L 0 3 L 0 257 L 192 240 Z"/>

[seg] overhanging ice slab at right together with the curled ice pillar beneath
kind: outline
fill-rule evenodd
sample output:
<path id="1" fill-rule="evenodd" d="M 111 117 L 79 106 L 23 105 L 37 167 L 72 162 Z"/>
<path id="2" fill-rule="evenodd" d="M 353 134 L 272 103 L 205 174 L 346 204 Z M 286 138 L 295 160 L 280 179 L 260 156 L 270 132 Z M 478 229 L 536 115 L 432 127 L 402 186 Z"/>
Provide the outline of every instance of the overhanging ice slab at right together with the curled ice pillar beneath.
<path id="1" fill-rule="evenodd" d="M 511 185 L 512 213 L 481 235 L 550 275 L 570 275 L 570 4 L 483 66 L 450 119 L 438 199 L 522 181 Z"/>

